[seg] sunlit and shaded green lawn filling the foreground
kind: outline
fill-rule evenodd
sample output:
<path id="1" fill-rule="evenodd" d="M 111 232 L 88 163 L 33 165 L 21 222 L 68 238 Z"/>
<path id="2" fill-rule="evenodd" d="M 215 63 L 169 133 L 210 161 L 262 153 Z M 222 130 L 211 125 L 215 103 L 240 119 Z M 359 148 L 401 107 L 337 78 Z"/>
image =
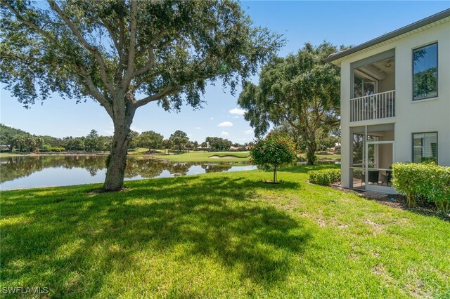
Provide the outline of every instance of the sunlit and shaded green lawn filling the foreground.
<path id="1" fill-rule="evenodd" d="M 320 168 L 320 166 L 316 166 Z M 54 297 L 450 297 L 450 223 L 311 167 L 1 192 L 1 286 Z"/>

